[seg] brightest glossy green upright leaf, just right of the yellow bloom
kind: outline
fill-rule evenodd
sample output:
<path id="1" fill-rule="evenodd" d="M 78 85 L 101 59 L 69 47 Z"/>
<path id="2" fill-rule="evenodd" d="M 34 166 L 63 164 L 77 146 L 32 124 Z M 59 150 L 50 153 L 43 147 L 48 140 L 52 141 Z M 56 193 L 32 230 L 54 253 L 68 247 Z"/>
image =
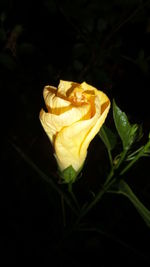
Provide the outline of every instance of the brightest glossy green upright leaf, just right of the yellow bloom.
<path id="1" fill-rule="evenodd" d="M 138 125 L 131 125 L 127 115 L 123 112 L 113 100 L 113 118 L 116 129 L 122 140 L 124 150 L 128 150 L 137 137 Z"/>

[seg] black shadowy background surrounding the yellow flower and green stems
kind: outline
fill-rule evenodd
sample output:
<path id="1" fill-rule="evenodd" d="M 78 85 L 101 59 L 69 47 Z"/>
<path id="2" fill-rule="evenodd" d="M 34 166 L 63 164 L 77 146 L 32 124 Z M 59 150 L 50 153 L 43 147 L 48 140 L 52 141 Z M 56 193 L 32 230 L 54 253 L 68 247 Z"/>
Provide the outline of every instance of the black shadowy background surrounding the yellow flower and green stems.
<path id="1" fill-rule="evenodd" d="M 40 122 L 43 87 L 86 81 L 105 91 L 132 123 L 150 129 L 150 1 L 1 1 L 1 240 L 3 264 L 127 266 L 150 262 L 150 231 L 127 199 L 106 195 L 87 221 L 102 229 L 64 237 L 58 195 L 23 159 L 56 175 Z M 107 122 L 113 127 L 112 112 Z M 14 145 L 19 147 L 17 152 Z M 96 152 L 95 152 L 96 151 Z M 108 170 L 96 137 L 75 185 L 82 202 Z M 101 174 L 101 175 L 100 175 Z M 150 208 L 149 159 L 126 179 Z M 53 263 L 54 260 L 54 263 Z M 95 264 L 94 261 L 97 263 Z"/>

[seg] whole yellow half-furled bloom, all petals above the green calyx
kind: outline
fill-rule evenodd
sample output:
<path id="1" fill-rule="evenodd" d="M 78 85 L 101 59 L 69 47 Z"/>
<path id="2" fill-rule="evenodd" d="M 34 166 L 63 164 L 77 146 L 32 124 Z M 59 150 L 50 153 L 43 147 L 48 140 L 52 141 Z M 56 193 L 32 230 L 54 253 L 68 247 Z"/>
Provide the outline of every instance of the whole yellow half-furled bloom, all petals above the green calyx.
<path id="1" fill-rule="evenodd" d="M 58 89 L 45 86 L 43 96 L 47 112 L 40 111 L 40 121 L 54 147 L 59 169 L 63 172 L 72 166 L 78 172 L 91 140 L 107 117 L 109 98 L 86 82 L 62 80 Z"/>

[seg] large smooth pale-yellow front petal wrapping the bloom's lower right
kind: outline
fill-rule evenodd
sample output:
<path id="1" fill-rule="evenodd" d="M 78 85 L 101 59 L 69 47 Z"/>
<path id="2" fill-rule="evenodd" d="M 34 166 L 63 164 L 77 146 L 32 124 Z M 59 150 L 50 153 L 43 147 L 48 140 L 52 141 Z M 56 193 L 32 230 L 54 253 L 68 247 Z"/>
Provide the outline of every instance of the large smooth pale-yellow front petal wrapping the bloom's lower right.
<path id="1" fill-rule="evenodd" d="M 82 166 L 89 143 L 99 131 L 104 123 L 109 110 L 103 112 L 100 116 L 100 103 L 98 97 L 95 99 L 96 113 L 89 119 L 76 122 L 66 128 L 63 128 L 56 136 L 54 147 L 55 157 L 61 170 L 72 165 L 78 171 Z"/>

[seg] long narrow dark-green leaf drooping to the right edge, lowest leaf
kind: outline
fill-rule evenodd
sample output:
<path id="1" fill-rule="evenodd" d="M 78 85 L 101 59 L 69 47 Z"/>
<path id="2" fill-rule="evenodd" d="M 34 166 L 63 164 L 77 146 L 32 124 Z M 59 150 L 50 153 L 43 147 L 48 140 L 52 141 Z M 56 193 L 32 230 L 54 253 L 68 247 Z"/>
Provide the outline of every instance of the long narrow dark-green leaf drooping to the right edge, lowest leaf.
<path id="1" fill-rule="evenodd" d="M 147 226 L 150 227 L 150 211 L 142 204 L 142 202 L 133 193 L 130 186 L 124 180 L 120 180 L 117 183 L 117 189 L 112 189 L 110 192 L 126 196 L 137 209 Z"/>

